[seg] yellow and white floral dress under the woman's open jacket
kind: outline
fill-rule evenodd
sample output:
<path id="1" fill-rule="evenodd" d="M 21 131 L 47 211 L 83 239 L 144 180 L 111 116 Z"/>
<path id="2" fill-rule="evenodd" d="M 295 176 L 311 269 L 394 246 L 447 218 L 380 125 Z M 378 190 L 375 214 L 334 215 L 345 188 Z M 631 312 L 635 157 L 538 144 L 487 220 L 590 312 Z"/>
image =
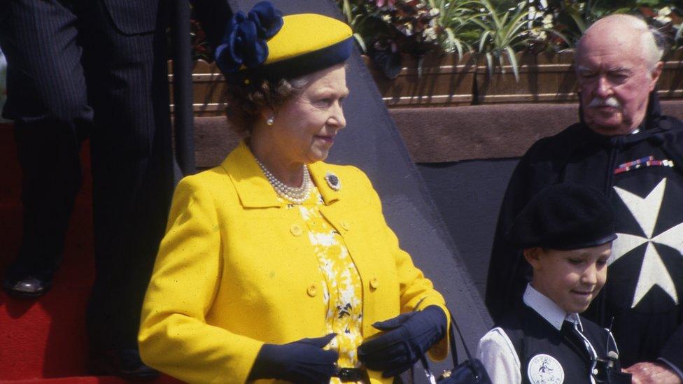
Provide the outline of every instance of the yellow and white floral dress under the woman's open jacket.
<path id="1" fill-rule="evenodd" d="M 323 197 L 318 188 L 311 186 L 311 196 L 302 204 L 290 204 L 298 209 L 306 223 L 304 234 L 308 236 L 321 270 L 323 300 L 328 308 L 325 314 L 325 334 L 336 333 L 330 348 L 339 352 L 337 364 L 342 368 L 360 367 L 356 349 L 362 343 L 362 285 L 358 269 L 348 255 L 344 239 L 323 218 L 319 207 Z M 341 383 L 332 378 L 330 383 Z"/>

